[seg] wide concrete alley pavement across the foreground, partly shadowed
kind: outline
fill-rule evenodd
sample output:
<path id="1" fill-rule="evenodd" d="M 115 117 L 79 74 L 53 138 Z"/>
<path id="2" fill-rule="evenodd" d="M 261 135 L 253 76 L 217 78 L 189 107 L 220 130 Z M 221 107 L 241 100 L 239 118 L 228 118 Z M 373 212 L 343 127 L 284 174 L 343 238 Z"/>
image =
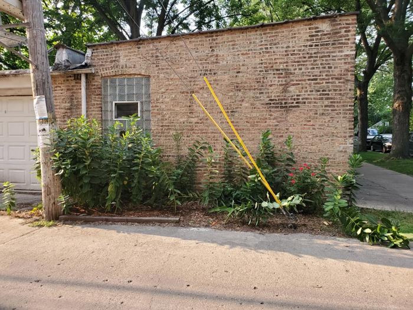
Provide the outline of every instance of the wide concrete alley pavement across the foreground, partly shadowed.
<path id="1" fill-rule="evenodd" d="M 409 309 L 413 251 L 306 234 L 22 226 L 0 217 L 0 309 Z"/>

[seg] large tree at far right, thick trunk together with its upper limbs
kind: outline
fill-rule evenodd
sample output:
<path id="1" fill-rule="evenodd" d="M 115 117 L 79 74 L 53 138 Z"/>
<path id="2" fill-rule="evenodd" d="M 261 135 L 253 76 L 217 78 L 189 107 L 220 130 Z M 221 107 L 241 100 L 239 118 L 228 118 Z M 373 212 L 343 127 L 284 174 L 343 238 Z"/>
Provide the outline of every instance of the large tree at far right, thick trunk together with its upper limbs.
<path id="1" fill-rule="evenodd" d="M 408 157 L 412 105 L 413 8 L 410 0 L 366 0 L 377 31 L 393 54 L 393 142 L 390 155 Z"/>

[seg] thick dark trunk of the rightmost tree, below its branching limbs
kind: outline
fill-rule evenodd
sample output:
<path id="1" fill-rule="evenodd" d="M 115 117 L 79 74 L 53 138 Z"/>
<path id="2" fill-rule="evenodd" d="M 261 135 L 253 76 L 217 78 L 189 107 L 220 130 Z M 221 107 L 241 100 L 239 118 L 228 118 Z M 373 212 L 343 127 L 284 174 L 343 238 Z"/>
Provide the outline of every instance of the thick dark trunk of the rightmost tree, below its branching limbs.
<path id="1" fill-rule="evenodd" d="M 390 155 L 397 158 L 409 156 L 409 120 L 412 105 L 412 59 L 406 55 L 393 54 L 393 141 Z"/>

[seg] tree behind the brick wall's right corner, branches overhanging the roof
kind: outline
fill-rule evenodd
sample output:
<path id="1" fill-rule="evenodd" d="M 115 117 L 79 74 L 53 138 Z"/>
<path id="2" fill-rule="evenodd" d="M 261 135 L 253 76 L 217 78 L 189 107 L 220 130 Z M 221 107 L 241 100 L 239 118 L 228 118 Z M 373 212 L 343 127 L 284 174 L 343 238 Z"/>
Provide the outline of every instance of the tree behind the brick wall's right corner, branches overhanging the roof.
<path id="1" fill-rule="evenodd" d="M 377 69 L 391 57 L 374 28 L 373 12 L 365 0 L 228 0 L 230 12 L 243 11 L 230 24 L 257 24 L 322 14 L 359 11 L 357 16 L 356 72 L 354 86 L 358 107 L 359 150 L 366 150 L 368 128 L 368 86 Z"/>

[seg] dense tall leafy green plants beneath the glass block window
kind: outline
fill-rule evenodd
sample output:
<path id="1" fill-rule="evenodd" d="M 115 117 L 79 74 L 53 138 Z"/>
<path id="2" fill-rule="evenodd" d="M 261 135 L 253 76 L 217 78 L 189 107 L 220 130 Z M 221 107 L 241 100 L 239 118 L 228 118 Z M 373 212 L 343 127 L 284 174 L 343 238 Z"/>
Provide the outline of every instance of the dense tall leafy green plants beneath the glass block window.
<path id="1" fill-rule="evenodd" d="M 70 119 L 57 130 L 52 160 L 61 177 L 65 212 L 72 203 L 116 212 L 126 203 L 171 203 L 176 208 L 183 199 L 197 198 L 195 168 L 206 143 L 196 141 L 173 166 L 161 160 L 161 149 L 138 128 L 137 120 L 129 117 L 126 130 L 116 122 L 105 136 L 96 120 L 84 117 Z"/>

